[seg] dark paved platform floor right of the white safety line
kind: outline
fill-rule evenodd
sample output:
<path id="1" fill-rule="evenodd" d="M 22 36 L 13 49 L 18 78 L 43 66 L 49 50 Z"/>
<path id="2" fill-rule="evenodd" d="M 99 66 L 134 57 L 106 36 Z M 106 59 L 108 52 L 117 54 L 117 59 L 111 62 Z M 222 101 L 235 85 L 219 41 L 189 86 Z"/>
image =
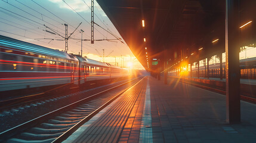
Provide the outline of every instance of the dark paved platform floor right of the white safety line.
<path id="1" fill-rule="evenodd" d="M 256 105 L 241 101 L 242 123 L 227 125 L 226 97 L 149 78 L 154 142 L 256 142 Z"/>

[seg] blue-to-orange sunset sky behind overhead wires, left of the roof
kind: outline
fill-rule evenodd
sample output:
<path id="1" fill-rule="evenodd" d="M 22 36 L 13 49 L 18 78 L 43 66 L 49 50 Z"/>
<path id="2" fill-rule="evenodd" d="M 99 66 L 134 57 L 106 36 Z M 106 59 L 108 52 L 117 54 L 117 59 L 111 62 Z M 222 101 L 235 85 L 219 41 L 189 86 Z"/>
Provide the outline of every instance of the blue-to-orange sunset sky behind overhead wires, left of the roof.
<path id="1" fill-rule="evenodd" d="M 70 36 L 69 53 L 81 52 L 81 29 L 84 30 L 83 39 L 91 39 L 91 0 L 3 0 L 0 1 L 0 35 L 9 36 L 48 48 L 64 50 L 64 41 L 56 41 L 64 36 L 65 26 L 68 24 L 68 36 L 82 22 L 77 30 Z M 109 18 L 101 10 L 97 1 L 94 1 L 94 40 L 122 38 Z M 45 26 L 44 26 L 45 25 Z M 47 28 L 47 27 L 49 28 Z M 50 32 L 54 30 L 59 35 Z M 109 32 L 106 32 L 109 31 Z M 47 32 L 50 31 L 50 32 Z M 45 39 L 44 39 L 45 38 Z M 54 41 L 50 40 L 54 39 Z M 124 43 L 122 43 L 122 42 Z M 116 63 L 121 66 L 121 55 L 124 58 L 124 67 L 131 61 L 134 69 L 144 69 L 132 54 L 131 50 L 122 39 L 121 41 L 90 41 L 83 42 L 83 55 L 88 58 L 105 62 Z M 97 51 L 96 51 L 97 49 Z M 113 52 L 112 52 L 113 51 Z M 111 52 L 111 54 L 110 54 Z M 116 58 L 115 58 L 116 57 Z"/>

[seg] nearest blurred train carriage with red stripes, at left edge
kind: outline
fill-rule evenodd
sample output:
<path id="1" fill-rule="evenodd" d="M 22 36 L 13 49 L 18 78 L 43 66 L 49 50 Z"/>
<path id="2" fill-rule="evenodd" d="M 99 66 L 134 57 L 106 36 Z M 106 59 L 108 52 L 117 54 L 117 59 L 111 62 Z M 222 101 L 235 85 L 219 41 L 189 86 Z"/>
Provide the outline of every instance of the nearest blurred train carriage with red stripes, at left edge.
<path id="1" fill-rule="evenodd" d="M 78 84 L 78 59 L 0 35 L 0 91 Z"/>

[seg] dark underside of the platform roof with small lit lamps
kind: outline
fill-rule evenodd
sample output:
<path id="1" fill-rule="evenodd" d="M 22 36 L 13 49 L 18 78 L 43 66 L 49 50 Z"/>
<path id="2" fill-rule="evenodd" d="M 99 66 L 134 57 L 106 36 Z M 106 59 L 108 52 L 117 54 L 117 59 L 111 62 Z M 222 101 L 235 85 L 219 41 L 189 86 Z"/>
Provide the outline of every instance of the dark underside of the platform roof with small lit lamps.
<path id="1" fill-rule="evenodd" d="M 97 2 L 146 69 L 147 58 L 149 63 L 152 63 L 153 58 L 158 58 L 173 64 L 181 60 L 193 62 L 224 52 L 225 1 L 223 0 L 97 0 Z M 253 0 L 241 1 L 241 24 L 252 20 L 255 4 L 256 1 Z M 142 20 L 145 27 L 142 25 Z M 252 41 L 255 41 L 255 38 L 252 36 L 248 38 L 253 31 L 255 33 L 255 28 L 243 31 L 247 35 L 243 38 L 245 39 L 242 41 L 243 45 L 254 43 Z M 213 42 L 215 40 L 217 41 Z M 191 55 L 192 53 L 194 54 Z"/>

